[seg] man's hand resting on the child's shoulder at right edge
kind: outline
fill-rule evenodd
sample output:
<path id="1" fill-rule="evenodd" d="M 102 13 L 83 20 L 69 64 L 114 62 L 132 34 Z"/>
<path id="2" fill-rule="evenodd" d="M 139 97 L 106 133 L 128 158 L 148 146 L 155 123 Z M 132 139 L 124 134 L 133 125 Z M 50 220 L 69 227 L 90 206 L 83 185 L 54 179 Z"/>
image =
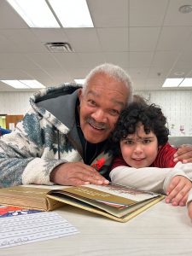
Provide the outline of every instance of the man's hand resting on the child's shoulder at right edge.
<path id="1" fill-rule="evenodd" d="M 192 162 L 192 145 L 184 144 L 178 147 L 177 153 L 174 154 L 174 162 L 182 161 L 183 164 Z"/>

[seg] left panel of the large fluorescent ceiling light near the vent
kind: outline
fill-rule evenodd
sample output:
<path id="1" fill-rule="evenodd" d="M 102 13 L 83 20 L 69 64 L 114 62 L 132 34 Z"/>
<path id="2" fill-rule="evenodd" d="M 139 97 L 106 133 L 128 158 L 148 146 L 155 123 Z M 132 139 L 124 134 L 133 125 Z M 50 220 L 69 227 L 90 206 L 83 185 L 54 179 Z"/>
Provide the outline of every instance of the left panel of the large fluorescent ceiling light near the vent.
<path id="1" fill-rule="evenodd" d="M 44 0 L 7 0 L 30 27 L 60 27 Z"/>

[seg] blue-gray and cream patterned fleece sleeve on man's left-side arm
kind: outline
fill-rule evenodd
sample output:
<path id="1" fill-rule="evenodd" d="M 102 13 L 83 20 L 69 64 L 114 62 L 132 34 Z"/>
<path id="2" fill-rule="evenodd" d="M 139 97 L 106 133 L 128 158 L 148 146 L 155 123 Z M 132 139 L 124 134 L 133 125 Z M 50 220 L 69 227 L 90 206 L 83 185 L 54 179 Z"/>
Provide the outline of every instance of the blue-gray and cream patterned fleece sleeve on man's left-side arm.
<path id="1" fill-rule="evenodd" d="M 53 127 L 31 110 L 15 131 L 0 138 L 0 187 L 53 184 L 49 181 L 50 172 L 66 161 L 48 157 L 53 148 L 46 137 L 55 137 Z M 45 148 L 49 151 L 46 157 Z"/>

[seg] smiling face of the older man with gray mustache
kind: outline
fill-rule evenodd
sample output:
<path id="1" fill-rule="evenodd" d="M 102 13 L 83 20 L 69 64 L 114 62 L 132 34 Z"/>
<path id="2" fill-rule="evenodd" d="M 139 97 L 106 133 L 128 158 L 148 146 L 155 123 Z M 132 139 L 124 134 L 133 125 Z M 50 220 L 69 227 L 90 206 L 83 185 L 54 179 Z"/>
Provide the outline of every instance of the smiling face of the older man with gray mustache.
<path id="1" fill-rule="evenodd" d="M 119 113 L 125 108 L 129 91 L 122 82 L 97 73 L 84 91 L 79 90 L 79 119 L 84 138 L 101 143 L 114 129 Z"/>

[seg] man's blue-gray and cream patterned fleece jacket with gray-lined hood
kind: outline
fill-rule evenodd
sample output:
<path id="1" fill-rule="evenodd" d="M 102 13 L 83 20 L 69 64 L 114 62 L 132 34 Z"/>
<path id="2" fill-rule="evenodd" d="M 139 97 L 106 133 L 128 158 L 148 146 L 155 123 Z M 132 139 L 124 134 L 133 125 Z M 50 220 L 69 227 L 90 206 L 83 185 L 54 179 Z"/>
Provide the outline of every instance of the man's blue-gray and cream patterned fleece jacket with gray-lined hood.
<path id="1" fill-rule="evenodd" d="M 15 131 L 0 137 L 0 187 L 48 184 L 50 172 L 61 163 L 83 160 L 83 148 L 75 120 L 80 86 L 62 84 L 39 90 L 30 98 L 32 108 Z M 108 172 L 112 154 L 103 148 L 93 160 L 104 159 L 99 170 Z"/>

